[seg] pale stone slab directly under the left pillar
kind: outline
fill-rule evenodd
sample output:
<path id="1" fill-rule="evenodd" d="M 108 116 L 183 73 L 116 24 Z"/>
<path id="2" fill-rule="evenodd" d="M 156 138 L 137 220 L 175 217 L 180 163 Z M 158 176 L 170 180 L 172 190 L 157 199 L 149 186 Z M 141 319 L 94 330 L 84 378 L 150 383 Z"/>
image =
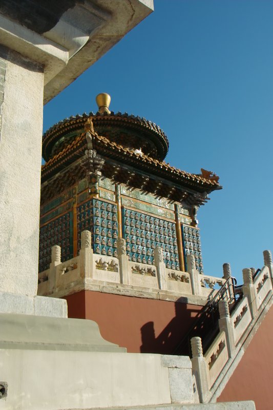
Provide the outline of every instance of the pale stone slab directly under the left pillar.
<path id="1" fill-rule="evenodd" d="M 65 299 L 0 292 L 0 313 L 67 318 Z"/>

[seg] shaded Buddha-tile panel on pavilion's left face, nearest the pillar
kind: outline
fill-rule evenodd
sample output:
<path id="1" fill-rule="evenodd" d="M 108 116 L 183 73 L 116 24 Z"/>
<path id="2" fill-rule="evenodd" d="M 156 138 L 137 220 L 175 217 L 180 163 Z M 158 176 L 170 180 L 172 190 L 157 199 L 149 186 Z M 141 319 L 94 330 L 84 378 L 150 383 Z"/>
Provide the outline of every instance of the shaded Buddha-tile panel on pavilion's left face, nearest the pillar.
<path id="1" fill-rule="evenodd" d="M 61 247 L 61 261 L 73 258 L 73 219 L 72 212 L 59 216 L 40 228 L 39 272 L 49 269 L 51 247 Z"/>

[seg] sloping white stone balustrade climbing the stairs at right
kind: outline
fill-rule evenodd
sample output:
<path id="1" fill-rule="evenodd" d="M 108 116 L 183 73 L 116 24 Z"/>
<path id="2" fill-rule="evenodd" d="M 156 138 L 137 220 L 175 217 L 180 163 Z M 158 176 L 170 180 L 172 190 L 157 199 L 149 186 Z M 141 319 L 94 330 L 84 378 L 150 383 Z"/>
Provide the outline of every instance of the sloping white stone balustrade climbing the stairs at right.
<path id="1" fill-rule="evenodd" d="M 224 267 L 224 279 L 230 277 L 230 267 Z M 273 303 L 272 258 L 270 251 L 264 252 L 264 267 L 253 279 L 253 268 L 243 269 L 243 296 L 229 314 L 227 300 L 220 300 L 219 333 L 203 355 L 202 340 L 193 337 L 192 365 L 201 403 L 215 401 L 224 388 L 230 368 L 238 364 L 244 343 L 248 344 L 256 328 Z M 209 279 L 209 277 L 207 277 Z M 208 280 L 207 279 L 207 280 Z M 220 283 L 219 283 L 220 284 Z"/>

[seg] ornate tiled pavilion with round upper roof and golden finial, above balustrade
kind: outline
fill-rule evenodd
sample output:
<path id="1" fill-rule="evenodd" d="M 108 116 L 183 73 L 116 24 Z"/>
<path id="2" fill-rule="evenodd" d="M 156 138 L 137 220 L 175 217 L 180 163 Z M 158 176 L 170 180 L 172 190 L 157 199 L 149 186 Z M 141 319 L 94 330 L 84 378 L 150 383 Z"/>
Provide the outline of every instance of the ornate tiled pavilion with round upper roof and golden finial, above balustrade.
<path id="1" fill-rule="evenodd" d="M 89 230 L 96 254 L 116 257 L 122 237 L 130 261 L 153 265 L 160 247 L 167 269 L 185 272 L 193 254 L 202 274 L 197 210 L 221 189 L 219 177 L 172 167 L 159 126 L 110 112 L 108 94 L 96 100 L 96 114 L 66 118 L 43 137 L 39 272 L 49 268 L 53 245 L 62 261 L 77 256 Z"/>

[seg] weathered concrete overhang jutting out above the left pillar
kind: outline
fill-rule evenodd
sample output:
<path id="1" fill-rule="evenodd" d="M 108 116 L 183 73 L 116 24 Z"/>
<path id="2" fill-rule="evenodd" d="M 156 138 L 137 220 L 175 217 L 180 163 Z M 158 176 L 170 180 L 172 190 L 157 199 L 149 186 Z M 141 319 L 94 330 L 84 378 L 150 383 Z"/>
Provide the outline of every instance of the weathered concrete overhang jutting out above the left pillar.
<path id="1" fill-rule="evenodd" d="M 46 104 L 152 11 L 153 0 L 4 0 L 0 43 L 44 66 Z"/>

